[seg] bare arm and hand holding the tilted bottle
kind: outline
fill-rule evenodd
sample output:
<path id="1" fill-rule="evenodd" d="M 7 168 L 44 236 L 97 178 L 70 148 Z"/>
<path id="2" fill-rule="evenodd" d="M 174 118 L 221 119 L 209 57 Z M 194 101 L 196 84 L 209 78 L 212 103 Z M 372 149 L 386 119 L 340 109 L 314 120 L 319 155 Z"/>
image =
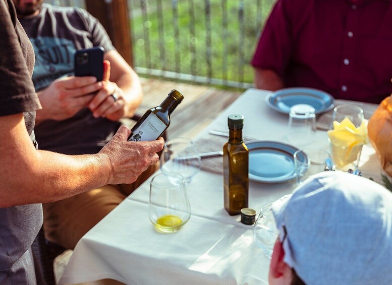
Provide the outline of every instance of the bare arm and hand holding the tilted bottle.
<path id="1" fill-rule="evenodd" d="M 95 155 L 63 155 L 36 150 L 21 113 L 0 117 L 0 207 L 64 199 L 105 184 L 132 183 L 158 161 L 163 139 L 127 142 L 121 127 Z"/>

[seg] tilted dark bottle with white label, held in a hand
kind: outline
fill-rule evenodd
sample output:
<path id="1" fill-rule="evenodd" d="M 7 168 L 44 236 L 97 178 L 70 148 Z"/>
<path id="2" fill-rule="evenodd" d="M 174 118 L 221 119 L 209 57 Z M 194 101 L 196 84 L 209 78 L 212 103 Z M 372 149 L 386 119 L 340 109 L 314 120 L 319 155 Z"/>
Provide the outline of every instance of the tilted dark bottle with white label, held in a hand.
<path id="1" fill-rule="evenodd" d="M 170 115 L 181 103 L 184 96 L 173 89 L 166 99 L 156 107 L 147 110 L 143 117 L 133 126 L 128 141 L 154 141 L 158 139 L 170 125 Z"/>

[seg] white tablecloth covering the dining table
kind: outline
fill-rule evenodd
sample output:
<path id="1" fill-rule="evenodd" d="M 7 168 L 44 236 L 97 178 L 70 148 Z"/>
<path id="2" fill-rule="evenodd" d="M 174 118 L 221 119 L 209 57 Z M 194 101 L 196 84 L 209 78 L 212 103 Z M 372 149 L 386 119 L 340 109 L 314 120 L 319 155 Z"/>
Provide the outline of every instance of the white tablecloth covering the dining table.
<path id="1" fill-rule="evenodd" d="M 255 88 L 242 93 L 194 138 L 200 151 L 222 150 L 227 138 L 210 132 L 228 132 L 228 116 L 232 114 L 244 116 L 246 141 L 287 143 L 288 115 L 268 106 L 270 93 Z M 369 116 L 377 107 L 345 100 L 334 103 L 358 104 Z M 329 150 L 325 129 L 316 131 L 312 145 Z M 213 158 L 217 162 L 208 165 L 209 159 L 202 159 L 202 169 L 186 186 L 192 214 L 181 230 L 173 234 L 155 230 L 148 215 L 149 178 L 79 241 L 59 283 L 110 278 L 125 284 L 267 284 L 270 259 L 256 245 L 253 226 L 225 210 L 222 158 Z M 269 167 L 273 161 L 265 163 L 260 167 Z M 363 146 L 359 168 L 363 177 L 382 183 L 382 169 L 371 144 Z M 296 187 L 295 178 L 250 179 L 249 207 L 259 213 L 263 204 L 292 193 Z"/>

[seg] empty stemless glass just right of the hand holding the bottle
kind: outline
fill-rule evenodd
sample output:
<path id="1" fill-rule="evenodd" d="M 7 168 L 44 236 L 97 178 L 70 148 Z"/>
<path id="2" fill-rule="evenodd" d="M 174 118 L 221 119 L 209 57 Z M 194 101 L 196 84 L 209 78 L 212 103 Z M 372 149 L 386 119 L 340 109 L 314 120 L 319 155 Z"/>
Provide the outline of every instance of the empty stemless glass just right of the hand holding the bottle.
<path id="1" fill-rule="evenodd" d="M 181 173 L 188 184 L 200 167 L 200 154 L 191 139 L 174 138 L 166 141 L 160 156 L 160 169 L 163 173 Z"/>

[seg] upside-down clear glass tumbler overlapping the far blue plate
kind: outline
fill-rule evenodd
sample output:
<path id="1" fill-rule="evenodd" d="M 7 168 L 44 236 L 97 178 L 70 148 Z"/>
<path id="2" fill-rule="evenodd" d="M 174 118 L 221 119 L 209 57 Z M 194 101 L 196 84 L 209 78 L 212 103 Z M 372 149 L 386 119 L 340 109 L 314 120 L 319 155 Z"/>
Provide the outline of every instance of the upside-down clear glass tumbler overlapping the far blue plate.
<path id="1" fill-rule="evenodd" d="M 296 104 L 290 108 L 287 141 L 300 147 L 315 141 L 316 114 L 308 104 Z"/>

